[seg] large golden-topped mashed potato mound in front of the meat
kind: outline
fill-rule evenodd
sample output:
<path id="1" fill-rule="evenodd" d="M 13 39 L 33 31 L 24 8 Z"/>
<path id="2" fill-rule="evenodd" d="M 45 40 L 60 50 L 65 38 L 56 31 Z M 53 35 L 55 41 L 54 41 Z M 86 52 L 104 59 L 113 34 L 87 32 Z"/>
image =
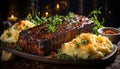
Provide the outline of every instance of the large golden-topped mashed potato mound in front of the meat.
<path id="1" fill-rule="evenodd" d="M 82 59 L 103 58 L 112 52 L 113 44 L 105 36 L 82 33 L 73 40 L 62 44 L 60 53 Z"/>

